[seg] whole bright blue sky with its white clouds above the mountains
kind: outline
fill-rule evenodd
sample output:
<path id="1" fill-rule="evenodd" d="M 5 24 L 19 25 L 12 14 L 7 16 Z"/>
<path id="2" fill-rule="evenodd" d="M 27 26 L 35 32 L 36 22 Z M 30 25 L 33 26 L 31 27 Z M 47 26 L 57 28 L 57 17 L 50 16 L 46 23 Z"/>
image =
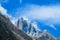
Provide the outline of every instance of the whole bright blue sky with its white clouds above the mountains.
<path id="1" fill-rule="evenodd" d="M 12 21 L 26 16 L 40 29 L 60 37 L 60 0 L 0 0 L 0 4 Z"/>

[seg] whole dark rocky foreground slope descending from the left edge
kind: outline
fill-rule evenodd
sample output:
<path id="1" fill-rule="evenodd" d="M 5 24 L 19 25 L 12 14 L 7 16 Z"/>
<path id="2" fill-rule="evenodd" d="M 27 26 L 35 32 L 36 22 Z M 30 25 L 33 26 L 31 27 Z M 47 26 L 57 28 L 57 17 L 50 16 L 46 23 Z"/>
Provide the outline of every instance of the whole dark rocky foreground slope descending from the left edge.
<path id="1" fill-rule="evenodd" d="M 0 40 L 33 40 L 22 30 L 15 27 L 8 16 L 0 12 Z"/>

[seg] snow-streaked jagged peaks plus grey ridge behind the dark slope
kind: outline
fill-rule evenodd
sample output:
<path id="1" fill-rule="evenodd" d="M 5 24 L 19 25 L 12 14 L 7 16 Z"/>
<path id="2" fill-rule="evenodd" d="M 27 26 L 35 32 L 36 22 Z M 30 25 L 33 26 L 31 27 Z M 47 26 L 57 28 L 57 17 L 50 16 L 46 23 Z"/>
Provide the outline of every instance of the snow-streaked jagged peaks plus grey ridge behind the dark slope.
<path id="1" fill-rule="evenodd" d="M 25 17 L 19 18 L 14 25 L 35 40 L 57 40 L 47 30 L 39 30 L 36 24 L 31 23 Z"/>

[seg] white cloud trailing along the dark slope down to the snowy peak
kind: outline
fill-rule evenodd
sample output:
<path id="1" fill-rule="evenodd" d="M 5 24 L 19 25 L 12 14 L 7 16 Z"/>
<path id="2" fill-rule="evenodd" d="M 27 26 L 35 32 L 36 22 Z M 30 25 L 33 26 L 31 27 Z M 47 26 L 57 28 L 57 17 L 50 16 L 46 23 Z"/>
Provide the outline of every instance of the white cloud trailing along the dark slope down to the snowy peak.
<path id="1" fill-rule="evenodd" d="M 1 6 L 0 4 L 0 12 L 2 15 L 4 15 L 5 17 L 9 17 L 11 19 L 11 22 L 14 24 L 15 21 L 17 20 L 17 18 L 12 17 L 12 15 L 7 13 L 7 9 L 5 9 L 4 7 Z"/>

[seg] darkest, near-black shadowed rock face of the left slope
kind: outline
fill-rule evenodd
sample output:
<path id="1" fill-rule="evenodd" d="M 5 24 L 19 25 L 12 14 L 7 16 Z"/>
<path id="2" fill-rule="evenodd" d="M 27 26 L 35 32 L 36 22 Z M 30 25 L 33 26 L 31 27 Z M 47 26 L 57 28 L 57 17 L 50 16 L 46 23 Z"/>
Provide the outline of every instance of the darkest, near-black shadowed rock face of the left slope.
<path id="1" fill-rule="evenodd" d="M 17 40 L 16 36 L 8 28 L 8 18 L 0 14 L 0 40 Z"/>

